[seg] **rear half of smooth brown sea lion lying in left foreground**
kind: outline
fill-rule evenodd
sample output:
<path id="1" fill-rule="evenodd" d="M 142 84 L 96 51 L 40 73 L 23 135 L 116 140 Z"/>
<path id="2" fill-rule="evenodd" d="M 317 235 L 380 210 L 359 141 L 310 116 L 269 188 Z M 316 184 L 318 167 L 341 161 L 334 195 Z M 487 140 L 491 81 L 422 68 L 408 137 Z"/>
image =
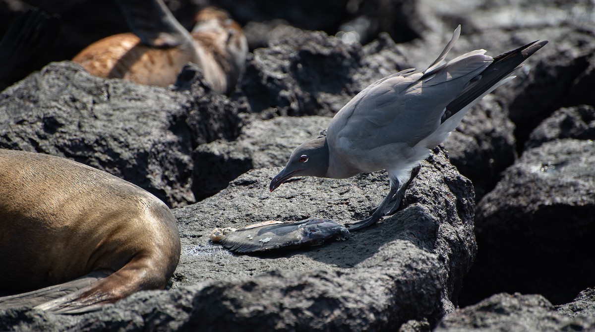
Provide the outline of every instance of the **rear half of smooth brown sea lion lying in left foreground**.
<path id="1" fill-rule="evenodd" d="M 176 218 L 155 196 L 79 162 L 0 149 L 0 292 L 49 286 L 0 308 L 92 311 L 163 289 L 179 258 Z"/>

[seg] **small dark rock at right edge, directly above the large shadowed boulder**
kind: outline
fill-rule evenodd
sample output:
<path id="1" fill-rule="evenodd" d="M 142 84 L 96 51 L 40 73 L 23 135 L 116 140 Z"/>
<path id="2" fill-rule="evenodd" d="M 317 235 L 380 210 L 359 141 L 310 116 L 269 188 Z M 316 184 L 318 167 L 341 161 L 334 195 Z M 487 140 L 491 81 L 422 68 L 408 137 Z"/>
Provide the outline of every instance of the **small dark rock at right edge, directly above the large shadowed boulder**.
<path id="1" fill-rule="evenodd" d="M 595 108 L 591 105 L 560 108 L 529 136 L 526 148 L 535 148 L 555 139 L 595 140 Z"/>

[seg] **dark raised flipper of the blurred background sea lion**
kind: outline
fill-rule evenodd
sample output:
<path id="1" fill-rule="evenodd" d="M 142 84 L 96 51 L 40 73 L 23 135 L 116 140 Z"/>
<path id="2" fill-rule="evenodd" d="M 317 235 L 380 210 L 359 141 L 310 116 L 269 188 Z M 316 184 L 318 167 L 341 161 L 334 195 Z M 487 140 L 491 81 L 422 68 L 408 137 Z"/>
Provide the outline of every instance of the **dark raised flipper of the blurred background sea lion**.
<path id="1" fill-rule="evenodd" d="M 192 46 L 192 36 L 161 0 L 118 0 L 130 29 L 143 44 L 156 47 Z"/>

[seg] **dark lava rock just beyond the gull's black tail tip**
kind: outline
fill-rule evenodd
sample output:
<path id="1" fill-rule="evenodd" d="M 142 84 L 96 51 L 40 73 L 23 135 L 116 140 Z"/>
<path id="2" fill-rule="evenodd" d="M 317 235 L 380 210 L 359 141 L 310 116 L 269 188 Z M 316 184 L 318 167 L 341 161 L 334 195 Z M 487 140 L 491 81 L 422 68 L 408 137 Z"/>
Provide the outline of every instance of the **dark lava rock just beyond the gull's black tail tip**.
<path id="1" fill-rule="evenodd" d="M 513 36 L 515 37 L 515 36 Z M 509 117 L 516 124 L 516 137 L 524 145 L 531 131 L 556 109 L 581 104 L 595 105 L 592 93 L 595 65 L 595 29 L 562 27 L 538 32 L 519 32 L 520 40 L 549 39 L 535 57 L 527 62 L 527 71 L 506 84 L 496 95 L 509 106 Z M 515 82 L 516 81 L 516 82 Z"/>

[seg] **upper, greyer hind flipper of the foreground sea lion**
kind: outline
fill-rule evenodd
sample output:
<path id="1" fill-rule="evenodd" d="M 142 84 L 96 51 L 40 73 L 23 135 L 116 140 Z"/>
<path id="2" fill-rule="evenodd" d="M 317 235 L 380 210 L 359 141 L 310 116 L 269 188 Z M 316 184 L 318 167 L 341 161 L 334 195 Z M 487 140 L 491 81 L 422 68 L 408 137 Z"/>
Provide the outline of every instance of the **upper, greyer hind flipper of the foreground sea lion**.
<path id="1" fill-rule="evenodd" d="M 15 308 L 18 306 L 39 306 L 89 287 L 109 274 L 111 273 L 108 271 L 93 271 L 67 283 L 33 290 L 32 292 L 3 296 L 0 297 L 0 309 Z"/>

